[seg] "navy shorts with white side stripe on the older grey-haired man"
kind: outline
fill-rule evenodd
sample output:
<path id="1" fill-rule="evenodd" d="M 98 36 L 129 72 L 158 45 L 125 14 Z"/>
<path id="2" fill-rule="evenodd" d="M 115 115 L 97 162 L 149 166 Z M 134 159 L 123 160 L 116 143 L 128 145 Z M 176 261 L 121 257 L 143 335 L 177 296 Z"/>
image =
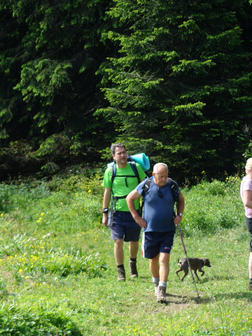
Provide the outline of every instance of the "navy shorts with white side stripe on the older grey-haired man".
<path id="1" fill-rule="evenodd" d="M 143 232 L 142 256 L 147 259 L 155 258 L 160 252 L 170 253 L 173 245 L 175 230 L 168 232 Z"/>

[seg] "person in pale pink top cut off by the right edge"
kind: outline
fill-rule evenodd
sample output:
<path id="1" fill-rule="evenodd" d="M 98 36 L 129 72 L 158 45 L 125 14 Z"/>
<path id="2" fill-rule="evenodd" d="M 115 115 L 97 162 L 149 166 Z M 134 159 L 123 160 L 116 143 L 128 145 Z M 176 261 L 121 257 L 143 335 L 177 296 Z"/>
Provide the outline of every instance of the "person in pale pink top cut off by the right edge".
<path id="1" fill-rule="evenodd" d="M 240 193 L 245 208 L 245 224 L 250 232 L 250 257 L 249 257 L 249 290 L 252 290 L 252 157 L 247 160 L 246 176 L 244 176 Z"/>

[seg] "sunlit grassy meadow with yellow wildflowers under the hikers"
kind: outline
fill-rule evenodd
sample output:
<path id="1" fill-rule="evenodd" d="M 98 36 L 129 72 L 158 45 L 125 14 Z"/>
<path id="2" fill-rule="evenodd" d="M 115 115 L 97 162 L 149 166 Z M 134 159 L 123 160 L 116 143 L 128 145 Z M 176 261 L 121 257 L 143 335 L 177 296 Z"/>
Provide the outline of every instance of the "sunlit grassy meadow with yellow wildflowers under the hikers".
<path id="1" fill-rule="evenodd" d="M 195 279 L 197 299 L 190 273 L 183 283 L 175 273 L 184 256 L 176 234 L 167 303 L 160 304 L 140 250 L 139 277 L 128 277 L 127 243 L 127 279 L 117 282 L 113 241 L 101 224 L 102 179 L 85 175 L 0 184 L 0 335 L 252 333 L 249 233 L 238 177 L 183 189 L 187 254 L 208 257 L 212 267 Z"/>

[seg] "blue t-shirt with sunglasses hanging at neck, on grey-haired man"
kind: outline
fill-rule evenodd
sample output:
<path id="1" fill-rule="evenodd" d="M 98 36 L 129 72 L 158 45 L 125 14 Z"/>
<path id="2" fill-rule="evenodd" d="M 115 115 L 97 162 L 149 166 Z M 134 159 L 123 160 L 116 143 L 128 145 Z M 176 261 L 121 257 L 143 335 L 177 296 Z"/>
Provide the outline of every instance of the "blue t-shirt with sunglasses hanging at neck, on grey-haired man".
<path id="1" fill-rule="evenodd" d="M 142 194 L 145 181 L 136 190 Z M 147 224 L 144 231 L 166 232 L 175 230 L 173 220 L 174 199 L 169 182 L 159 188 L 151 179 L 149 189 L 144 196 L 143 218 Z"/>

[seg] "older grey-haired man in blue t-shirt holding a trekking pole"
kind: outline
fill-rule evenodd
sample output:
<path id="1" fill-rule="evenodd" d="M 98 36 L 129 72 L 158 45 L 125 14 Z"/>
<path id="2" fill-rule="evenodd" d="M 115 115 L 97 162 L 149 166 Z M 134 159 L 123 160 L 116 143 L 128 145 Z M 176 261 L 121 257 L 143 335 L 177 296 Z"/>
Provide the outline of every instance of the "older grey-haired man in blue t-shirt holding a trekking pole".
<path id="1" fill-rule="evenodd" d="M 133 219 L 143 228 L 142 251 L 143 256 L 149 259 L 157 301 L 165 302 L 175 224 L 179 224 L 182 220 L 185 201 L 180 193 L 176 203 L 177 215 L 174 215 L 174 197 L 168 181 L 167 165 L 155 164 L 152 175 L 153 179 L 144 195 L 143 218 L 135 210 L 134 201 L 141 197 L 145 181 L 129 193 L 126 202 Z"/>

